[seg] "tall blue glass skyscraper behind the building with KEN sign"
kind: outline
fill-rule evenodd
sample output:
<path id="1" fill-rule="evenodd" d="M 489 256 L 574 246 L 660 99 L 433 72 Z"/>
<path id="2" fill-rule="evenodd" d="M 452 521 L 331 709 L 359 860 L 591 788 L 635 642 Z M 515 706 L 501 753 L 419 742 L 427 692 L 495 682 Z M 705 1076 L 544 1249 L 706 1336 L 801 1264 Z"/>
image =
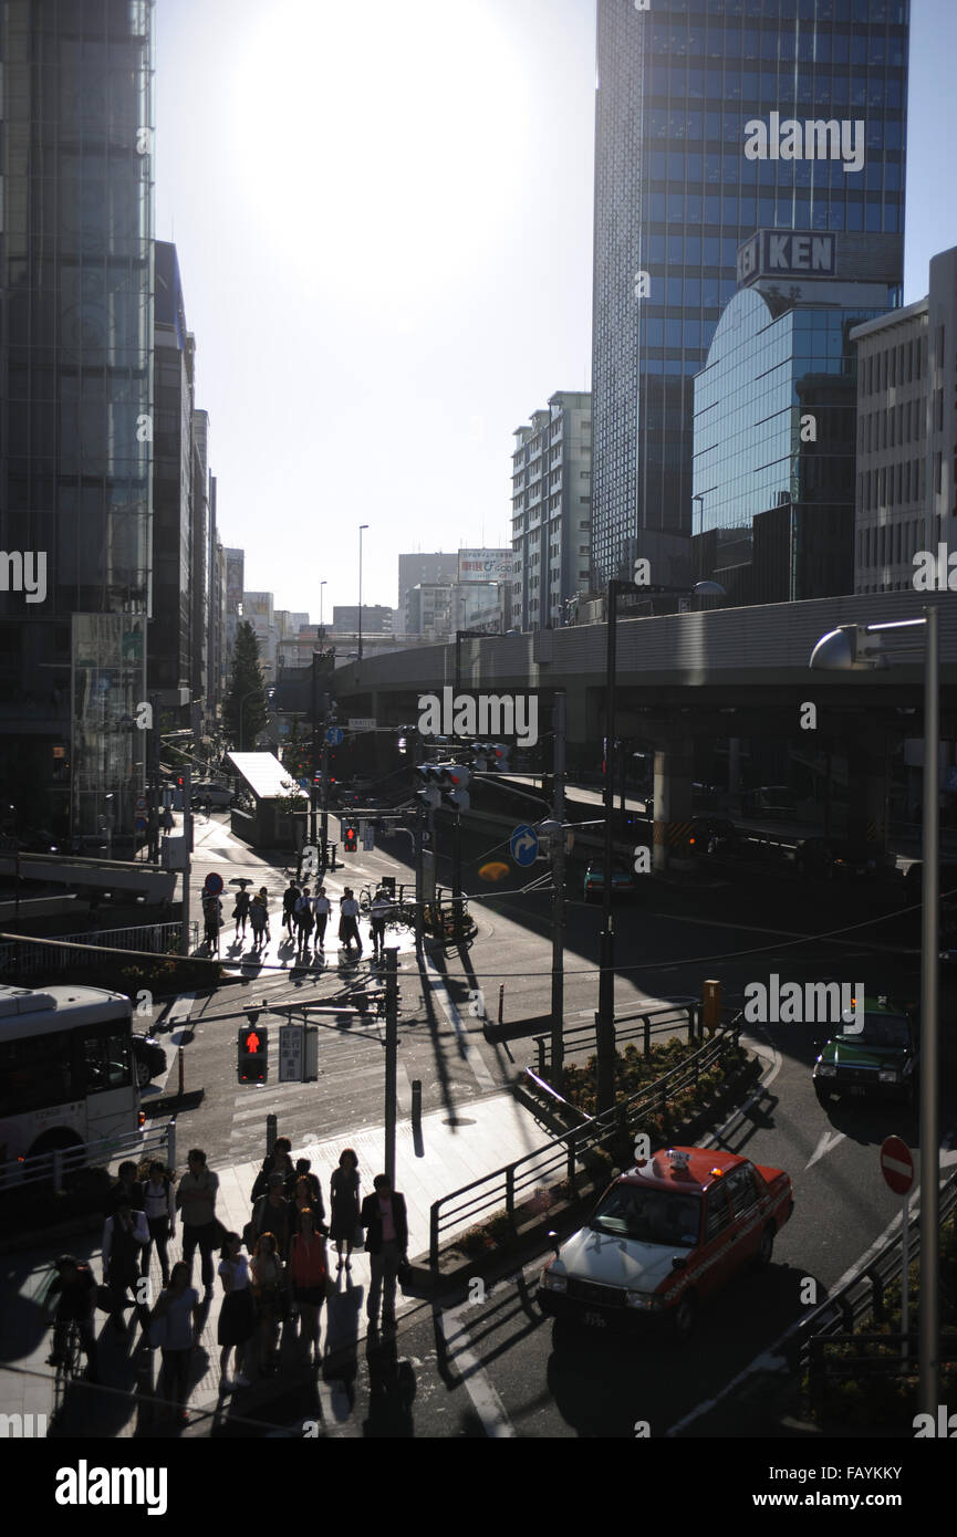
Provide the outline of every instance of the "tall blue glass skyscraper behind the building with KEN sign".
<path id="1" fill-rule="evenodd" d="M 908 0 L 654 0 L 648 11 L 599 0 L 599 586 L 629 575 L 639 555 L 654 570 L 655 535 L 691 533 L 694 375 L 734 298 L 742 241 L 757 229 L 839 232 L 839 277 L 882 283 L 888 307 L 900 303 L 908 25 Z M 749 158 L 746 124 L 771 137 L 774 112 L 863 123 L 860 169 Z"/>

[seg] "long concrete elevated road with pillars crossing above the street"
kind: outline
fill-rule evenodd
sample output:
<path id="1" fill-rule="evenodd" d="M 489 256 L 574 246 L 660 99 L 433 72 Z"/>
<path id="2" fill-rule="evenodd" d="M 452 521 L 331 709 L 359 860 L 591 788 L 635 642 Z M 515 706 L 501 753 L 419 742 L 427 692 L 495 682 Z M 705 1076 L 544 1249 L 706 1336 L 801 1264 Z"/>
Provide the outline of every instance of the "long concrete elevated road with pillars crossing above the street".
<path id="1" fill-rule="evenodd" d="M 919 618 L 940 609 L 942 739 L 957 738 L 957 606 L 949 593 L 880 593 L 809 603 L 712 609 L 629 619 L 617 633 L 615 735 L 654 753 L 655 865 L 679 851 L 691 819 L 695 742 L 788 741 L 808 755 L 846 756 L 848 835 L 883 844 L 889 753 L 920 738 L 923 632 L 888 636 L 883 672 L 811 672 L 814 644 L 839 624 Z M 892 653 L 891 653 L 892 647 Z M 480 636 L 458 644 L 351 662 L 335 672 L 338 716 L 380 727 L 415 722 L 418 696 L 445 686 L 465 693 L 566 693 L 569 756 L 605 735 L 606 626 Z M 809 709 L 811 707 L 811 709 Z M 380 738 L 385 764 L 385 741 Z M 548 765 L 549 753 L 545 756 Z"/>

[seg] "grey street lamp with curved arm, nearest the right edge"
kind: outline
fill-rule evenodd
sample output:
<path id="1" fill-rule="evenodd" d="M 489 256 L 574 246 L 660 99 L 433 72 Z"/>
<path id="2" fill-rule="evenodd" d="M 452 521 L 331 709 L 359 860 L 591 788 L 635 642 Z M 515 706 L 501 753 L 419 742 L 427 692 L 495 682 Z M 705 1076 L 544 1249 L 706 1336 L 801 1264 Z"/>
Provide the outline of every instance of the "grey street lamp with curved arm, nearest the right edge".
<path id="1" fill-rule="evenodd" d="M 920 924 L 920 1411 L 937 1414 L 940 1336 L 940 1113 L 937 1070 L 939 825 L 940 825 L 940 649 L 937 609 L 923 619 L 842 624 L 811 652 L 811 667 L 842 672 L 886 667 L 880 633 L 925 627 L 923 653 L 923 870 Z M 868 636 L 879 636 L 869 641 Z"/>

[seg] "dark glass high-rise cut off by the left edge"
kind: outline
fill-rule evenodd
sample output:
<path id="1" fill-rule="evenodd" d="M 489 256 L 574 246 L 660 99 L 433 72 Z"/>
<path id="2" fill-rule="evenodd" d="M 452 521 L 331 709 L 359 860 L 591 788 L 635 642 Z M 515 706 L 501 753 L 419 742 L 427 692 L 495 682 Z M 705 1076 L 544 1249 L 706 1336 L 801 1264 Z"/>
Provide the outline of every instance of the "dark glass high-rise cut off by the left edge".
<path id="1" fill-rule="evenodd" d="M 114 847 L 146 767 L 152 12 L 0 0 L 0 793 Z"/>

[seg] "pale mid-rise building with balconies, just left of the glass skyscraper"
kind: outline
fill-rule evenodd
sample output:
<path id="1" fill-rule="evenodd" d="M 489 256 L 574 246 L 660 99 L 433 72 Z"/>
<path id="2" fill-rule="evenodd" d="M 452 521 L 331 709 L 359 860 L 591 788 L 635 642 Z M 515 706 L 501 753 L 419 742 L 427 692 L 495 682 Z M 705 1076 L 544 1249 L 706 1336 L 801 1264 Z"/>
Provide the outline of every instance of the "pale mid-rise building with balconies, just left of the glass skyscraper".
<path id="1" fill-rule="evenodd" d="M 591 587 L 591 395 L 557 390 L 515 432 L 512 613 L 517 630 L 552 629 Z"/>

